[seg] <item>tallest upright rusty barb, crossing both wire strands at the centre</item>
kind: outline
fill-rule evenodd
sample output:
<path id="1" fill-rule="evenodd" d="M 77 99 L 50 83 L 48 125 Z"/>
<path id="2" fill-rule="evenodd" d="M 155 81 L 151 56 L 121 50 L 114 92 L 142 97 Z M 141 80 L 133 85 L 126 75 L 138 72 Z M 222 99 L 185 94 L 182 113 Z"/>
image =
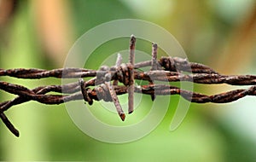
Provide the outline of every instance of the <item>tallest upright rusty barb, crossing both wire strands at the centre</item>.
<path id="1" fill-rule="evenodd" d="M 129 88 L 128 88 L 128 113 L 133 112 L 133 104 L 134 104 L 134 62 L 135 62 L 135 43 L 136 38 L 131 35 L 130 40 L 130 66 L 129 68 Z"/>

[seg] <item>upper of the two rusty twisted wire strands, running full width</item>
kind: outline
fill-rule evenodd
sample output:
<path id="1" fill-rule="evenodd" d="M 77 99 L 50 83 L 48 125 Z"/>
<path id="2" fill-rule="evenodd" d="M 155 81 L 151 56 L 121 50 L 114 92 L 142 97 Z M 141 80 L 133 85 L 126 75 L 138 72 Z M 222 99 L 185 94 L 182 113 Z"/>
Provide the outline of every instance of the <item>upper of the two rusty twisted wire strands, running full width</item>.
<path id="1" fill-rule="evenodd" d="M 120 79 L 127 79 L 129 77 L 128 67 L 126 64 L 121 65 L 121 69 L 117 70 L 114 68 L 112 76 L 119 76 Z M 27 72 L 27 73 L 26 73 Z M 42 70 L 42 69 L 9 69 L 3 70 L 0 69 L 1 76 L 9 76 L 14 78 L 61 78 L 61 72 L 63 73 L 62 78 L 87 78 L 87 77 L 96 77 L 96 75 L 105 75 L 106 71 L 95 71 L 87 69 L 74 69 L 74 68 L 62 68 L 57 70 Z M 125 73 L 125 75 L 122 75 Z M 134 71 L 134 78 L 138 80 L 154 80 L 166 81 L 166 78 L 169 82 L 178 82 L 178 81 L 189 81 L 194 82 L 195 84 L 230 84 L 230 85 L 254 85 L 256 84 L 255 75 L 221 75 L 218 73 L 192 73 L 192 74 L 183 74 L 180 72 L 169 72 L 163 70 L 149 71 L 149 72 L 139 72 Z M 163 78 L 166 76 L 166 78 Z M 129 83 L 128 79 L 124 81 L 125 84 Z"/>

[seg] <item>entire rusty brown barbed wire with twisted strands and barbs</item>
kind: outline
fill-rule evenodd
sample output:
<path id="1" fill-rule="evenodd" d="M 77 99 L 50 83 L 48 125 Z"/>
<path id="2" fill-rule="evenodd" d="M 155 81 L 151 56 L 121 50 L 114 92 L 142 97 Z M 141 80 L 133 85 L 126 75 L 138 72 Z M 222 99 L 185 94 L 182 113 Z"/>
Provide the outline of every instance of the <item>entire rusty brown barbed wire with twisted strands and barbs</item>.
<path id="1" fill-rule="evenodd" d="M 154 101 L 156 95 L 181 95 L 185 100 L 196 103 L 227 103 L 236 101 L 246 95 L 256 95 L 255 75 L 222 75 L 205 65 L 189 62 L 179 57 L 161 57 L 157 61 L 157 44 L 152 43 L 152 60 L 134 63 L 136 38 L 131 36 L 130 61 L 122 63 L 118 55 L 116 65 L 102 66 L 98 71 L 84 68 L 44 69 L 0 69 L 0 77 L 40 79 L 40 78 L 79 78 L 77 82 L 62 85 L 45 85 L 35 89 L 28 89 L 20 84 L 0 81 L 0 90 L 17 95 L 11 101 L 0 103 L 0 118 L 8 129 L 19 136 L 19 131 L 4 114 L 10 107 L 26 101 L 38 101 L 44 104 L 61 104 L 67 101 L 84 100 L 89 105 L 93 101 L 113 101 L 120 119 L 125 120 L 125 113 L 120 106 L 117 95 L 128 93 L 129 111 L 133 112 L 133 93 L 151 95 Z M 151 67 L 148 72 L 141 68 Z M 93 78 L 92 78 L 93 77 Z M 84 78 L 90 78 L 84 81 Z M 145 80 L 148 84 L 136 85 L 135 80 Z M 155 81 L 167 84 L 154 84 Z M 192 82 L 195 84 L 230 84 L 252 85 L 248 89 L 230 90 L 216 95 L 182 90 L 169 85 L 169 82 Z M 118 84 L 119 83 L 119 84 Z M 58 95 L 48 94 L 56 92 Z"/>

